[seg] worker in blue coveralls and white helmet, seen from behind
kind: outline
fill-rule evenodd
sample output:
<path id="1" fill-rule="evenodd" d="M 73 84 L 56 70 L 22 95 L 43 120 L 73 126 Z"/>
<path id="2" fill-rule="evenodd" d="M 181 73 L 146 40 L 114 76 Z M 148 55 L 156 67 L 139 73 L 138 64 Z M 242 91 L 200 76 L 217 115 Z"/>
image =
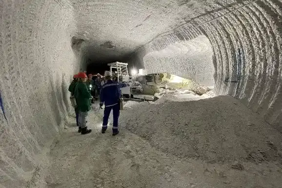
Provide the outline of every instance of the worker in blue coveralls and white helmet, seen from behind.
<path id="1" fill-rule="evenodd" d="M 120 116 L 120 98 L 121 87 L 129 86 L 129 84 L 123 84 L 112 81 L 112 74 L 109 71 L 105 71 L 106 84 L 101 88 L 100 92 L 100 107 L 105 104 L 102 133 L 105 133 L 108 127 L 108 120 L 113 109 L 113 136 L 119 134 L 118 124 Z"/>

